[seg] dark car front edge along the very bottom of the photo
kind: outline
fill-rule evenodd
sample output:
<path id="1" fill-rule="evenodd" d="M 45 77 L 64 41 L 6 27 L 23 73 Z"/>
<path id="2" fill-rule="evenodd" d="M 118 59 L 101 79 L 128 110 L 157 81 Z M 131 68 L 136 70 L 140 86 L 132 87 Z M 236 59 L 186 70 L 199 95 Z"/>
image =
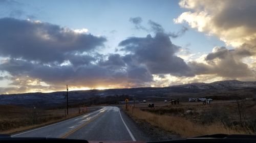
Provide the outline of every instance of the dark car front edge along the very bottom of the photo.
<path id="1" fill-rule="evenodd" d="M 44 138 L 44 137 L 11 137 L 9 135 L 0 135 L 0 142 L 74 142 L 74 143 L 96 143 L 97 141 L 87 141 L 83 139 L 65 139 L 65 138 Z M 124 142 L 144 142 L 144 141 L 98 141 L 99 143 L 124 143 Z M 98 143 L 97 142 L 97 143 Z M 170 139 L 164 141 L 152 141 L 152 142 L 145 142 L 145 143 L 187 143 L 187 142 L 210 142 L 210 143 L 217 143 L 217 142 L 229 142 L 229 143 L 238 143 L 238 142 L 256 142 L 256 135 L 227 135 L 227 134 L 214 134 L 214 135 L 204 135 L 204 136 L 197 136 L 191 138 L 184 138 L 184 139 Z"/>

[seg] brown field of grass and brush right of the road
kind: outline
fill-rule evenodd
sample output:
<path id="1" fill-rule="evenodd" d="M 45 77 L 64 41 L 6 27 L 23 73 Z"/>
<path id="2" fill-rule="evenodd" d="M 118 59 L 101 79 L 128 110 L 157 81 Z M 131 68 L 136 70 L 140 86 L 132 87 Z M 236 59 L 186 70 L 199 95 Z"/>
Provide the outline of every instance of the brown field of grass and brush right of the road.
<path id="1" fill-rule="evenodd" d="M 135 121 L 147 122 L 180 137 L 206 134 L 255 134 L 256 102 L 240 100 L 211 105 L 179 104 L 124 111 Z"/>

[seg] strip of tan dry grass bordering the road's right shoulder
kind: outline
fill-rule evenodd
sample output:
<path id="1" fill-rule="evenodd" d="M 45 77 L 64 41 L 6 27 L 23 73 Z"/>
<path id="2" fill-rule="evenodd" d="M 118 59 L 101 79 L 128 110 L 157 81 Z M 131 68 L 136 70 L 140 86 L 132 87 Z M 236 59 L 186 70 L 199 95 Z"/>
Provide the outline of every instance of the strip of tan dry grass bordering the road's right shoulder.
<path id="1" fill-rule="evenodd" d="M 175 132 L 181 137 L 193 137 L 205 134 L 250 134 L 246 131 L 238 131 L 230 128 L 225 128 L 222 124 L 201 125 L 193 123 L 182 117 L 156 115 L 148 111 L 142 111 L 135 108 L 132 114 L 132 108 L 126 111 L 130 116 L 135 119 L 144 120 L 153 126 L 159 127 L 166 131 Z"/>

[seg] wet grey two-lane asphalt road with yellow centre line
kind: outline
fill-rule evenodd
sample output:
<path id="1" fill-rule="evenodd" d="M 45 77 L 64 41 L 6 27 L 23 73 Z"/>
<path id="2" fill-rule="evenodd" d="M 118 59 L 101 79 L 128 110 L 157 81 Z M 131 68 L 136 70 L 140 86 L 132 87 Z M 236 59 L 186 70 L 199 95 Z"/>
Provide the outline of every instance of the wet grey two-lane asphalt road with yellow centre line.
<path id="1" fill-rule="evenodd" d="M 96 111 L 48 126 L 13 134 L 12 137 L 54 137 L 97 141 L 148 141 L 119 107 L 104 106 Z"/>

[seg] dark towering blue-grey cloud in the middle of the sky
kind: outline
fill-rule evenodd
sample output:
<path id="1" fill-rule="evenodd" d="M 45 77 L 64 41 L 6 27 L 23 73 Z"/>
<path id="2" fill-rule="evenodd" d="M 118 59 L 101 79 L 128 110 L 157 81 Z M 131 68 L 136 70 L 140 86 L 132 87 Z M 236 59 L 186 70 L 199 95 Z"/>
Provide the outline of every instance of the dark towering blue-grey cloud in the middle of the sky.
<path id="1" fill-rule="evenodd" d="M 157 33 L 155 37 L 131 37 L 121 41 L 119 46 L 132 53 L 126 61 L 145 65 L 152 74 L 194 75 L 184 60 L 174 55 L 180 47 L 174 45 L 165 33 Z"/>

